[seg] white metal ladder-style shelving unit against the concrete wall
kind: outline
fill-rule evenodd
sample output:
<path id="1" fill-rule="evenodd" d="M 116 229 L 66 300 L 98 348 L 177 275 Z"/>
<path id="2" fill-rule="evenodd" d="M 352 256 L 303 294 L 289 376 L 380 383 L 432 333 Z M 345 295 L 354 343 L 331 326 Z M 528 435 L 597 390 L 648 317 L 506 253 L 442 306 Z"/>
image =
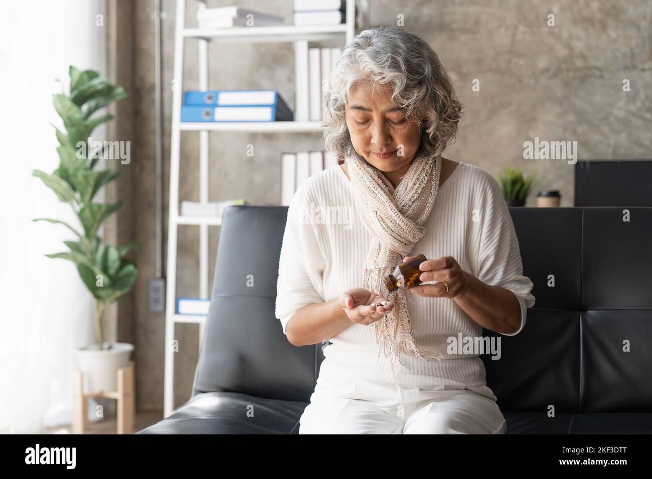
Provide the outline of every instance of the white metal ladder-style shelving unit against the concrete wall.
<path id="1" fill-rule="evenodd" d="M 206 8 L 205 0 L 195 0 L 198 8 Z M 292 0 L 288 0 L 292 1 Z M 184 123 L 181 122 L 181 102 L 183 98 L 183 60 L 186 38 L 194 38 L 198 42 L 199 55 L 199 89 L 209 89 L 208 82 L 208 42 L 257 43 L 257 42 L 292 42 L 295 62 L 308 48 L 308 42 L 325 40 L 344 40 L 348 44 L 355 35 L 355 0 L 349 0 L 346 6 L 346 23 L 341 25 L 283 25 L 277 27 L 234 27 L 233 29 L 193 29 L 185 27 L 186 0 L 177 0 L 176 27 L 174 39 L 174 70 L 172 94 L 172 128 L 170 141 L 170 206 L 168 221 L 168 265 L 166 269 L 166 326 L 165 326 L 165 371 L 163 416 L 173 413 L 174 404 L 174 328 L 176 324 L 197 323 L 200 326 L 199 342 L 203 340 L 206 317 L 196 315 L 179 315 L 175 313 L 177 297 L 177 228 L 181 225 L 199 225 L 200 227 L 200 291 L 199 297 L 209 297 L 208 278 L 208 227 L 220 225 L 220 218 L 204 218 L 179 216 L 179 167 L 181 152 L 181 132 L 199 132 L 200 140 L 200 202 L 208 203 L 208 163 L 209 163 L 209 132 L 249 132 L 249 133 L 314 133 L 321 127 L 318 121 L 308 121 L 299 111 L 306 111 L 306 106 L 295 102 L 295 121 L 272 123 Z M 343 45 L 343 46 L 344 46 Z M 307 86 L 306 86 L 307 87 Z"/>

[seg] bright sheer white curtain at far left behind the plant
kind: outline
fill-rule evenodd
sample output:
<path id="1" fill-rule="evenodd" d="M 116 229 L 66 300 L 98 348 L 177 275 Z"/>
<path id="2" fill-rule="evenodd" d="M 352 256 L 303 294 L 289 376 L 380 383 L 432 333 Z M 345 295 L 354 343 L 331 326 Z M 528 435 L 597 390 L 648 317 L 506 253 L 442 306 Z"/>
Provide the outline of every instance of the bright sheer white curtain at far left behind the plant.
<path id="1" fill-rule="evenodd" d="M 73 350 L 95 340 L 93 297 L 66 251 L 79 227 L 33 169 L 59 165 L 52 94 L 68 66 L 105 72 L 104 0 L 8 0 L 0 7 L 0 432 L 69 423 Z M 105 132 L 97 128 L 93 138 Z M 21 344 L 33 349 L 21 349 Z"/>

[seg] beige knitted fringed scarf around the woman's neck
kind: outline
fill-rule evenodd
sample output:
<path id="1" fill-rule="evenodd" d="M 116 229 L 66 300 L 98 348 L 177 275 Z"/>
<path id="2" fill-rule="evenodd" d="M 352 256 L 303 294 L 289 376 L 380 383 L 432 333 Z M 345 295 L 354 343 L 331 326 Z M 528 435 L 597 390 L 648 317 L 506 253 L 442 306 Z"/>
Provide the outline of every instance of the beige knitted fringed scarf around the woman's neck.
<path id="1" fill-rule="evenodd" d="M 412 332 L 408 313 L 408 292 L 404 288 L 388 292 L 383 278 L 409 256 L 414 244 L 426 233 L 423 227 L 428 219 L 439 189 L 441 155 L 428 157 L 417 154 L 408 173 L 394 190 L 394 186 L 376 167 L 354 152 L 347 162 L 353 186 L 355 207 L 373 239 L 366 257 L 363 286 L 394 303 L 394 309 L 376 321 L 376 343 L 387 357 L 390 355 L 390 382 L 394 374 L 394 360 L 403 366 L 400 349 L 424 360 L 439 359 L 434 349 L 421 348 Z M 418 254 L 419 252 L 415 253 Z"/>

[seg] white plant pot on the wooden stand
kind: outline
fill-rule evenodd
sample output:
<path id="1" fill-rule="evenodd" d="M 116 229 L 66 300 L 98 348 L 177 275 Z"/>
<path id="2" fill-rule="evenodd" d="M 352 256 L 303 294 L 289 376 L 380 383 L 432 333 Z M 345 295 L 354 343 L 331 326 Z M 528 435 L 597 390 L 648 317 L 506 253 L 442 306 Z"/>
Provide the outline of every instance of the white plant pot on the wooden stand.
<path id="1" fill-rule="evenodd" d="M 111 349 L 102 351 L 97 349 L 97 344 L 75 350 L 77 364 L 83 373 L 83 394 L 117 390 L 118 370 L 129 366 L 134 345 L 129 343 L 109 343 L 109 345 Z"/>

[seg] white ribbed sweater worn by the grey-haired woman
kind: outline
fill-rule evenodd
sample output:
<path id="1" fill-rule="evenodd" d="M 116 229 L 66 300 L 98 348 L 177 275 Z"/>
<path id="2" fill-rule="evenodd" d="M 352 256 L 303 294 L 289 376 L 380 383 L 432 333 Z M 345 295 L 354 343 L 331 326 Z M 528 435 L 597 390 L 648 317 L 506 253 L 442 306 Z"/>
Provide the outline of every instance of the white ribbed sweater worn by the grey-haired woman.
<path id="1" fill-rule="evenodd" d="M 283 332 L 292 315 L 314 302 L 330 301 L 360 287 L 370 233 L 359 220 L 351 182 L 340 166 L 304 181 L 291 199 L 278 265 L 276 318 Z M 450 255 L 482 282 L 512 291 L 521 304 L 520 332 L 535 297 L 523 276 L 518 239 L 497 182 L 477 166 L 460 163 L 441 185 L 411 255 Z M 428 282 L 433 283 L 433 282 Z M 379 292 L 383 293 L 383 292 Z M 409 295 L 417 345 L 439 348 L 439 358 L 422 360 L 405 351 L 396 364 L 398 382 L 410 385 L 486 385 L 478 355 L 447 353 L 447 338 L 477 337 L 482 327 L 455 300 Z M 514 334 L 518 334 L 518 332 Z M 505 336 L 514 336 L 505 334 Z M 364 377 L 389 381 L 389 358 L 379 355 L 373 325 L 351 323 L 324 349 L 319 379 Z"/>

